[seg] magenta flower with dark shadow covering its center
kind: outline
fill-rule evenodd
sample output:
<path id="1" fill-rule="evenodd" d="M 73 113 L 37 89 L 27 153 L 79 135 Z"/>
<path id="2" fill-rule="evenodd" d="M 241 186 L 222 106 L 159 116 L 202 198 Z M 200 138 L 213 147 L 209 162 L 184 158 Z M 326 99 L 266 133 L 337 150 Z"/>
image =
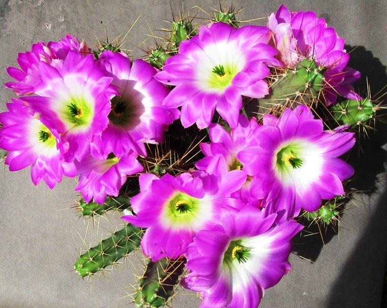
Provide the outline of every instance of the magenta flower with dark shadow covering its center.
<path id="1" fill-rule="evenodd" d="M 105 50 L 99 61 L 119 92 L 111 100 L 100 151 L 107 155 L 104 144 L 108 144 L 116 155 L 133 150 L 145 157 L 145 143 L 162 143 L 164 132 L 179 117 L 179 110 L 162 106 L 169 90 L 154 79 L 157 70 L 144 60 L 133 61 L 131 67 L 126 54 Z"/>

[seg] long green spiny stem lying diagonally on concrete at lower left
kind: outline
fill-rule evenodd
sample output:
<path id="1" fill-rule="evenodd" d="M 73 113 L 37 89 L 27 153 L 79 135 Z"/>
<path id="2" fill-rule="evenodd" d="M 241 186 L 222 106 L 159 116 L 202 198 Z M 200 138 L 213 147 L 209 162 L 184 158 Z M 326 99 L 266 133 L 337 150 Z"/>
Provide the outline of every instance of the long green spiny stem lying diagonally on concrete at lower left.
<path id="1" fill-rule="evenodd" d="M 81 277 L 85 277 L 116 264 L 119 259 L 140 247 L 143 233 L 142 228 L 125 225 L 80 256 L 74 265 L 75 270 Z"/>

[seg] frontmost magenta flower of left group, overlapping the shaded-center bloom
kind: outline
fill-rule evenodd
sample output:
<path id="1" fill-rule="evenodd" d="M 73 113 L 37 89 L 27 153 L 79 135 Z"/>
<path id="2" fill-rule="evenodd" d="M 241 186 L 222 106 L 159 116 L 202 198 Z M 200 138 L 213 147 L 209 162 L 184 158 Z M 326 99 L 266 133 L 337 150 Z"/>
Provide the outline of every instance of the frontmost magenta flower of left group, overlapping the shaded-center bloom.
<path id="1" fill-rule="evenodd" d="M 92 55 L 70 51 L 60 69 L 41 62 L 42 81 L 35 87 L 39 96 L 23 97 L 41 120 L 69 143 L 68 161 L 82 161 L 90 153 L 93 138 L 108 124 L 110 99 L 117 94 L 111 77 L 101 70 Z"/>

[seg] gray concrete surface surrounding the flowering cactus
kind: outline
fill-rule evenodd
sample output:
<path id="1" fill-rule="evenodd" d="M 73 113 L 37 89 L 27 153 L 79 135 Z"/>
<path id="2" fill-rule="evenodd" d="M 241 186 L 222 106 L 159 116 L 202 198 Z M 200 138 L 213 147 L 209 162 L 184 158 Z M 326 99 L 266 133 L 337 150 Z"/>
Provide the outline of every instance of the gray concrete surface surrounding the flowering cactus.
<path id="1" fill-rule="evenodd" d="M 140 16 L 126 38 L 125 47 L 133 56 L 143 55 L 137 48 L 151 31 L 166 28 L 171 20 L 170 5 L 175 16 L 184 6 L 191 15 L 202 7 L 211 12 L 218 1 L 145 0 L 11 0 L 0 1 L 0 82 L 10 81 L 7 66 L 17 66 L 18 52 L 29 50 L 37 41 L 58 40 L 72 34 L 93 46 L 103 39 L 104 26 L 110 39 L 124 34 Z M 227 6 L 229 2 L 222 2 Z M 326 18 L 339 35 L 346 39 L 352 52 L 352 67 L 366 75 L 372 93 L 387 84 L 387 2 L 385 0 L 337 1 L 233 1 L 244 8 L 243 20 L 266 18 L 285 4 L 291 11 L 313 10 Z M 203 13 L 199 14 L 205 17 Z M 264 20 L 252 21 L 263 25 Z M 149 38 L 147 45 L 153 45 Z M 145 48 L 145 45 L 142 45 Z M 364 92 L 363 92 L 364 93 Z M 0 91 L 0 111 L 12 96 Z M 374 136 L 375 137 L 375 136 Z M 268 289 L 262 307 L 379 307 L 381 283 L 386 256 L 387 205 L 385 192 L 385 129 L 376 138 L 363 142 L 364 158 L 355 160 L 359 189 L 348 206 L 340 225 L 340 235 L 327 235 L 324 247 L 318 236 L 309 237 L 309 244 L 298 242 L 295 251 L 313 259 L 310 263 L 291 255 L 293 270 L 278 285 Z M 354 150 L 356 151 L 356 150 Z M 3 167 L 2 167 L 3 168 Z M 134 275 L 139 274 L 141 257 L 133 257 L 105 275 L 91 281 L 81 279 L 73 271 L 74 262 L 83 247 L 87 222 L 78 219 L 71 207 L 78 199 L 73 189 L 75 179 L 65 179 L 53 191 L 44 184 L 34 187 L 29 169 L 0 175 L 0 307 L 116 307 L 132 306 L 130 297 Z M 369 190 L 369 191 L 368 191 Z M 117 215 L 90 224 L 86 244 L 114 231 Z M 98 235 L 96 236 L 96 234 Z M 181 291 L 173 307 L 195 307 L 199 298 Z"/>

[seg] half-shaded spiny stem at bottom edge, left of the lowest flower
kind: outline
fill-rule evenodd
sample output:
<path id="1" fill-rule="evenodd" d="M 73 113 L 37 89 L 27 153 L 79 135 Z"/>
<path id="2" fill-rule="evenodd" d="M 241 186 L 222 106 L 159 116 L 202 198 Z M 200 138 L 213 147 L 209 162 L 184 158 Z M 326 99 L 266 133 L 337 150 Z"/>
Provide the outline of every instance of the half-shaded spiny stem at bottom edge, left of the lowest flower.
<path id="1" fill-rule="evenodd" d="M 140 307 L 164 306 L 173 295 L 173 289 L 183 273 L 184 263 L 183 258 L 150 261 L 140 279 L 136 304 Z"/>

